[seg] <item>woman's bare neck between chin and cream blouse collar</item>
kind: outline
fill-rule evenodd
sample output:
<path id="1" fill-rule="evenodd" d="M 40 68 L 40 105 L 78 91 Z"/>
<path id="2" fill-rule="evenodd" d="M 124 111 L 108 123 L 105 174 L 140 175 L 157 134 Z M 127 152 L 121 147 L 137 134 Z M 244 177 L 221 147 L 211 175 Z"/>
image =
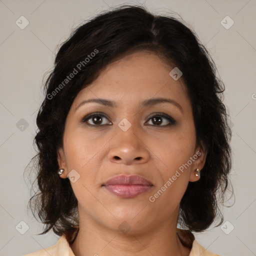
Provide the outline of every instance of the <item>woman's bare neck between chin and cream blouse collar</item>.
<path id="1" fill-rule="evenodd" d="M 79 231 L 70 245 L 75 256 L 91 255 L 166 255 L 188 256 L 190 248 L 180 241 L 182 233 L 173 221 L 162 222 L 144 232 L 122 233 L 107 229 L 99 223 L 79 218 Z M 84 225 L 82 224 L 84 223 Z M 86 224 L 85 224 L 86 223 Z M 177 234 L 178 231 L 178 234 Z"/>

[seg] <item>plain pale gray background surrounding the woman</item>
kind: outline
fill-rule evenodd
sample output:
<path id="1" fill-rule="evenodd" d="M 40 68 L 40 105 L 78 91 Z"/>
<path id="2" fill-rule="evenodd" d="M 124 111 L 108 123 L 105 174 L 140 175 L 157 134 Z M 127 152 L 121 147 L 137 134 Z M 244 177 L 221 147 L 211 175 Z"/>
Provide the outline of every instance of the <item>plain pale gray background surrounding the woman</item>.
<path id="1" fill-rule="evenodd" d="M 36 235 L 43 225 L 26 210 L 30 183 L 24 180 L 23 171 L 35 154 L 32 139 L 36 111 L 43 99 L 42 77 L 53 65 L 57 45 L 69 36 L 72 28 L 101 10 L 122 3 L 0 0 L 0 255 L 20 256 L 58 240 L 53 232 Z M 226 87 L 224 103 L 232 126 L 231 181 L 235 203 L 222 209 L 224 222 L 229 221 L 222 229 L 234 229 L 226 234 L 220 226 L 211 226 L 206 232 L 195 233 L 196 239 L 220 255 L 256 255 L 256 1 L 146 0 L 144 5 L 160 14 L 180 14 L 209 50 Z M 29 21 L 24 29 L 15 23 L 21 23 L 22 15 Z M 234 21 L 228 29 L 221 23 L 226 15 Z M 231 19 L 222 22 L 229 26 Z M 233 199 L 226 204 L 231 205 Z M 26 225 L 29 229 L 21 234 Z"/>

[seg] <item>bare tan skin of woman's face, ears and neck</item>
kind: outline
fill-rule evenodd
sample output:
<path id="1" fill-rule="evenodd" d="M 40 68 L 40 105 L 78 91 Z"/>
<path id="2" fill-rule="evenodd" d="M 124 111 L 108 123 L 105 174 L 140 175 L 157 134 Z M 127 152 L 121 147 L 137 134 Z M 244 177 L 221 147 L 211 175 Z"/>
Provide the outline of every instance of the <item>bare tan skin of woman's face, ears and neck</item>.
<path id="1" fill-rule="evenodd" d="M 66 178 L 75 169 L 80 177 L 71 182 L 78 200 L 80 229 L 71 249 L 81 255 L 175 255 L 188 256 L 176 234 L 180 200 L 188 182 L 199 179 L 194 169 L 202 169 L 206 152 L 196 147 L 192 107 L 182 79 L 174 80 L 170 67 L 157 55 L 139 51 L 104 68 L 86 88 L 79 91 L 66 118 L 63 148 L 58 150 L 59 168 Z M 141 107 L 140 102 L 154 97 L 175 100 Z M 116 107 L 85 103 L 86 99 L 105 98 Z M 102 112 L 102 121 L 93 118 L 82 122 L 85 115 Z M 162 117 L 154 122 L 149 115 L 162 112 L 176 122 Z M 118 123 L 126 118 L 131 127 L 123 131 Z M 159 118 L 159 117 L 158 117 Z M 158 197 L 150 202 L 160 187 L 172 177 L 189 157 L 197 159 Z M 140 157 L 140 158 L 138 158 Z M 138 174 L 153 184 L 151 190 L 132 198 L 119 197 L 102 185 L 119 174 Z M 77 174 L 75 174 L 77 176 Z M 126 221 L 130 230 L 118 226 Z M 96 254 L 95 254 L 96 255 Z"/>

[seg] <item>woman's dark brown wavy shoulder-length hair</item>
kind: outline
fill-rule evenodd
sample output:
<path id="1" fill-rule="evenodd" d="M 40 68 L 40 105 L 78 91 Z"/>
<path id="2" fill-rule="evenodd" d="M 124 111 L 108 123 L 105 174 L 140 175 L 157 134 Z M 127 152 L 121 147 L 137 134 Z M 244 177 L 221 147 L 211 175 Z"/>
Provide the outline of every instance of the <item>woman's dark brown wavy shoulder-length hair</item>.
<path id="1" fill-rule="evenodd" d="M 37 113 L 33 141 L 38 150 L 31 159 L 35 161 L 37 191 L 28 202 L 33 216 L 37 214 L 46 225 L 39 234 L 52 228 L 55 234 L 68 236 L 79 229 L 77 199 L 70 181 L 57 174 L 57 150 L 62 147 L 65 120 L 74 98 L 106 65 L 140 50 L 154 52 L 182 71 L 180 79 L 192 103 L 196 144 L 207 150 L 200 179 L 188 183 L 180 201 L 178 223 L 199 232 L 217 217 L 221 218 L 218 225 L 223 222 L 218 201 L 223 203 L 230 184 L 231 130 L 222 103 L 224 84 L 214 61 L 183 20 L 152 14 L 143 6 L 122 5 L 73 29 L 58 49 L 54 68 L 44 83 L 45 98 Z M 74 68 L 78 72 L 70 78 Z"/>

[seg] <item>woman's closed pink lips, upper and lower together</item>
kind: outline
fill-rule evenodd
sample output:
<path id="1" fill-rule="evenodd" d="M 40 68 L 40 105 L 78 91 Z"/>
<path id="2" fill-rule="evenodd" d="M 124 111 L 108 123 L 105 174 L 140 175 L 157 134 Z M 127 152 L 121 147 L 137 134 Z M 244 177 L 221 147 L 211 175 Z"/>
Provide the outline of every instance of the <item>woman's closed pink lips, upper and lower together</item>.
<path id="1" fill-rule="evenodd" d="M 118 175 L 107 180 L 102 186 L 124 198 L 131 198 L 150 190 L 152 183 L 139 175 Z"/>

